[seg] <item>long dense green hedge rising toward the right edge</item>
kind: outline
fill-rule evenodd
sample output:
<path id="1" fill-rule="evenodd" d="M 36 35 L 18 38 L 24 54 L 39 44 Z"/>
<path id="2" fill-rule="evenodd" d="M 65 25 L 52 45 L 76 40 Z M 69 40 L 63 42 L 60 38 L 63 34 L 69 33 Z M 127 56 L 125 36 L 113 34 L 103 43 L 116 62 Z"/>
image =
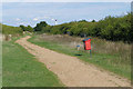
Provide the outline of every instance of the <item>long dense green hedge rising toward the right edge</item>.
<path id="1" fill-rule="evenodd" d="M 53 34 L 70 34 L 70 36 L 92 36 L 99 37 L 106 40 L 113 41 L 132 41 L 133 31 L 131 30 L 131 13 L 123 17 L 106 17 L 103 20 L 95 22 L 72 21 L 69 23 L 49 26 L 45 22 L 38 23 L 34 29 L 39 26 L 43 26 L 39 30 L 41 32 L 48 32 Z"/>

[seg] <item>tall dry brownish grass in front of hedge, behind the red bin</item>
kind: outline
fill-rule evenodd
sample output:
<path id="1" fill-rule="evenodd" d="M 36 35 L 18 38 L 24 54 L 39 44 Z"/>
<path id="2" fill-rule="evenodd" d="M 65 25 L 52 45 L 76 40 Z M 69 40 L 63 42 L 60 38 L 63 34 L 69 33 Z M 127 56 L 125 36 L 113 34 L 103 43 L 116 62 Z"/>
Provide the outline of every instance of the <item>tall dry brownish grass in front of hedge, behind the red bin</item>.
<path id="1" fill-rule="evenodd" d="M 41 34 L 41 40 L 45 41 L 52 41 L 58 42 L 61 46 L 68 46 L 71 48 L 76 48 L 78 44 L 80 44 L 80 50 L 83 49 L 83 42 L 82 40 L 84 38 L 79 37 L 70 37 L 70 36 L 62 36 L 62 34 Z M 124 43 L 122 41 L 120 42 L 113 42 L 113 41 L 106 41 L 99 38 L 92 38 L 92 52 L 93 53 L 108 53 L 117 56 L 117 61 L 120 63 L 130 63 L 131 62 L 131 44 Z"/>

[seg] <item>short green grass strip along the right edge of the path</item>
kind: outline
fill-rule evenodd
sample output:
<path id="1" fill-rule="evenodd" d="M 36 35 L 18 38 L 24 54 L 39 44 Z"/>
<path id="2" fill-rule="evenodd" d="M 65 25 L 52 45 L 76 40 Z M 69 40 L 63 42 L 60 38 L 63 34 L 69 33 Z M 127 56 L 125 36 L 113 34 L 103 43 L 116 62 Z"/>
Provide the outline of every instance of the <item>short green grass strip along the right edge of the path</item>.
<path id="1" fill-rule="evenodd" d="M 119 59 L 117 55 L 93 52 L 92 56 L 90 57 L 89 52 L 84 52 L 83 50 L 76 51 L 76 49 L 66 47 L 64 44 L 60 44 L 59 42 L 51 42 L 51 41 L 37 40 L 37 39 L 39 39 L 39 36 L 33 36 L 31 39 L 29 39 L 29 41 L 34 44 L 38 44 L 61 53 L 78 57 L 79 59 L 85 62 L 93 63 L 100 68 L 112 71 L 127 79 L 131 79 L 131 66 L 126 63 L 120 63 L 117 61 Z"/>

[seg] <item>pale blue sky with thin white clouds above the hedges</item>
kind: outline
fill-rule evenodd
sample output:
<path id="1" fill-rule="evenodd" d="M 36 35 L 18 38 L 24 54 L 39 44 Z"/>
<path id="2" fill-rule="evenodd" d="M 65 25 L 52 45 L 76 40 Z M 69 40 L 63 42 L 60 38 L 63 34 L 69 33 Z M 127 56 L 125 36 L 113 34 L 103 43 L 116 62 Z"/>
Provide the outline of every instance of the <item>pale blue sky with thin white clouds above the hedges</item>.
<path id="1" fill-rule="evenodd" d="M 106 16 L 124 16 L 131 10 L 130 2 L 3 2 L 2 23 L 32 26 L 40 21 L 54 24 L 93 19 Z"/>

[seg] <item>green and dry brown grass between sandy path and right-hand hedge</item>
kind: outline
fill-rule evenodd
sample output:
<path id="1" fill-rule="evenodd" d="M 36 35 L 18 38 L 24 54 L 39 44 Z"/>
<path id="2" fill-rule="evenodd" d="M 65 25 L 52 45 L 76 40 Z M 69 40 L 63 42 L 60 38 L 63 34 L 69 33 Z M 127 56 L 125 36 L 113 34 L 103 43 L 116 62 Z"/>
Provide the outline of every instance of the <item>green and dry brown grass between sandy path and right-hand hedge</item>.
<path id="1" fill-rule="evenodd" d="M 83 38 L 70 37 L 68 34 L 34 34 L 30 42 L 61 52 L 78 57 L 101 69 L 117 73 L 119 76 L 131 79 L 131 44 L 113 41 L 106 41 L 99 38 L 92 38 L 92 55 L 84 51 Z M 81 48 L 78 51 L 76 44 Z"/>

